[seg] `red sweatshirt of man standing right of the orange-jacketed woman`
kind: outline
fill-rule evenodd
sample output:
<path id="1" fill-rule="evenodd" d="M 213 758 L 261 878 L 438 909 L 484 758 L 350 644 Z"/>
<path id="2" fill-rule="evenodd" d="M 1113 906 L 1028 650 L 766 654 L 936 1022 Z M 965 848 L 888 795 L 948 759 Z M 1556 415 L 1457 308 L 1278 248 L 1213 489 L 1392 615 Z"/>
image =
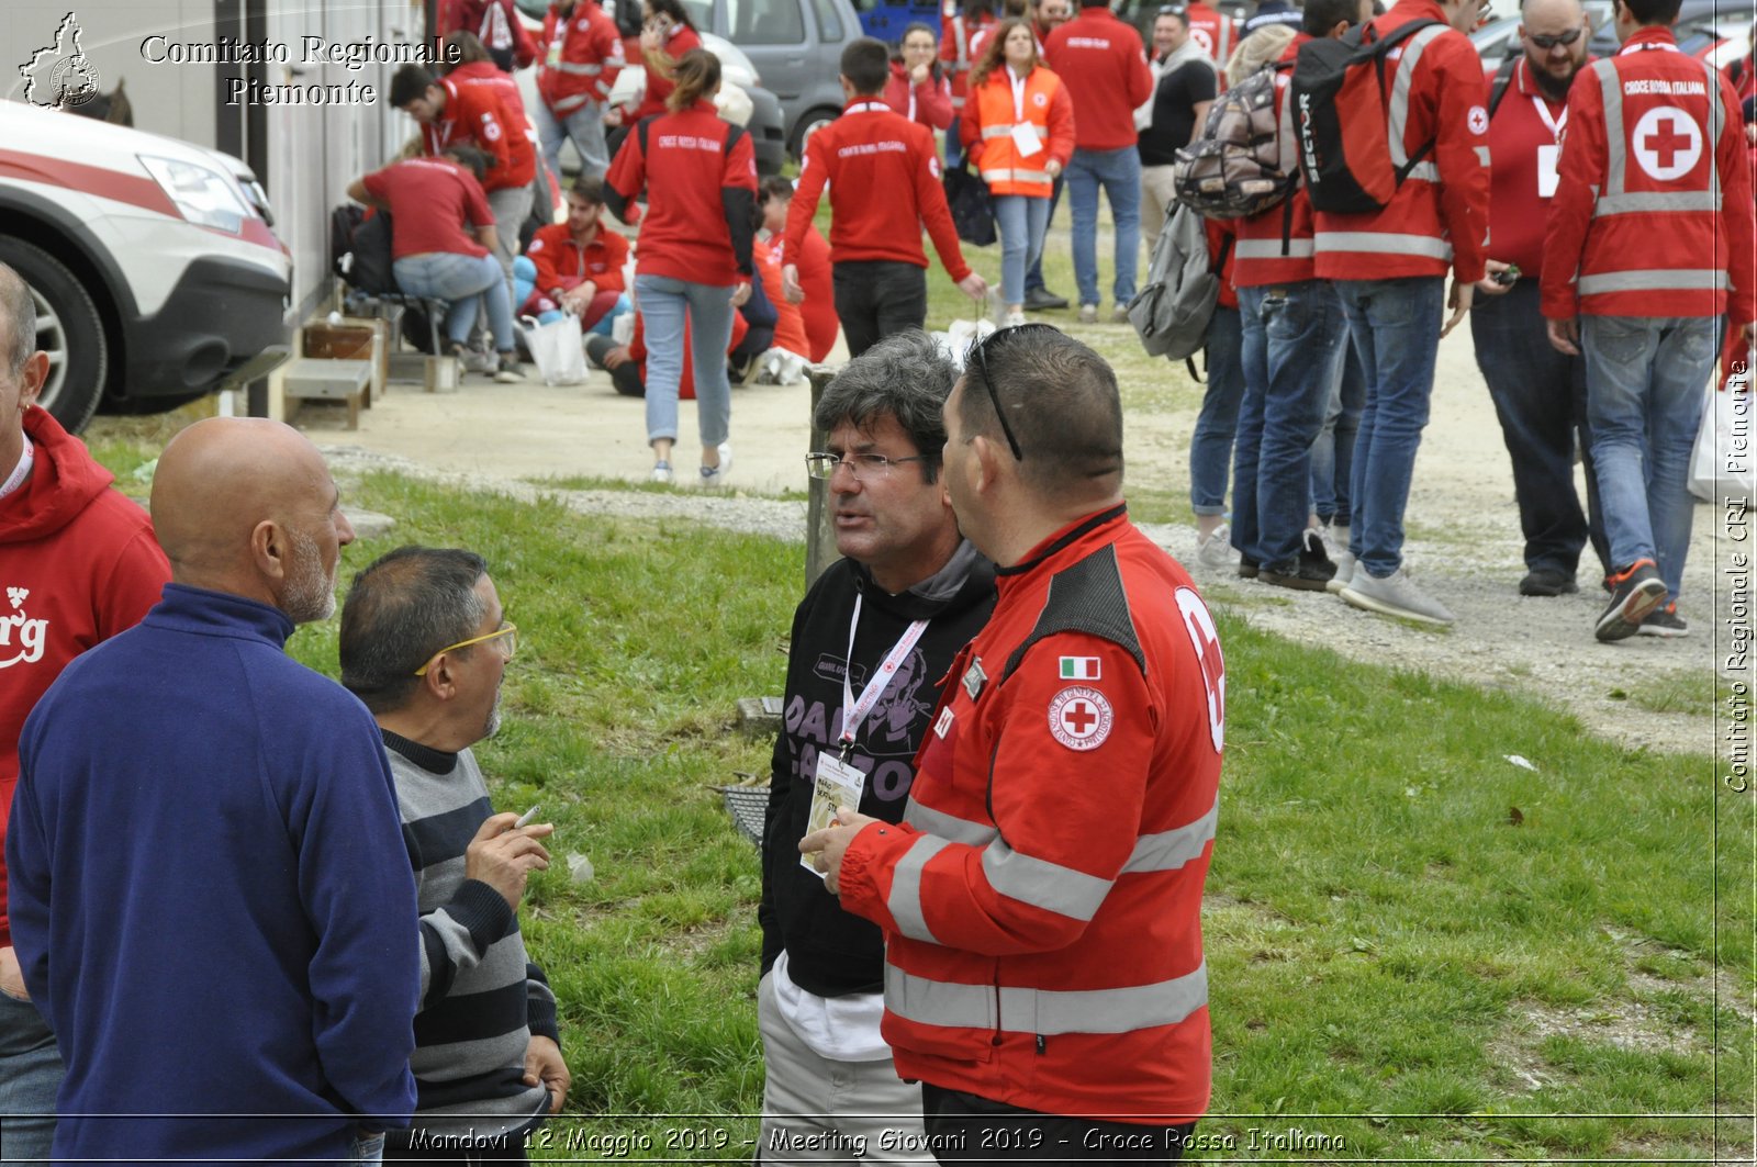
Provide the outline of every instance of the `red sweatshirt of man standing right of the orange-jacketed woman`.
<path id="1" fill-rule="evenodd" d="M 1074 98 L 1075 148 L 1135 148 L 1135 107 L 1153 97 L 1153 70 L 1133 25 L 1107 7 L 1081 9 L 1049 33 L 1044 62 Z"/>

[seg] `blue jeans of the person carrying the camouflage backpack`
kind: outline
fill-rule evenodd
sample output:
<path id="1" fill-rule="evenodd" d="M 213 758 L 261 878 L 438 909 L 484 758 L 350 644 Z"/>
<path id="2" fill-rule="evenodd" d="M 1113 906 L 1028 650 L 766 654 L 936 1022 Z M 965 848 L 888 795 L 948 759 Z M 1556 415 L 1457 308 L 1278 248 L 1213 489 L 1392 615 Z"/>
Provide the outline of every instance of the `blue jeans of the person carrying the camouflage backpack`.
<path id="1" fill-rule="evenodd" d="M 1239 288 L 1244 406 L 1232 475 L 1232 545 L 1291 569 L 1311 513 L 1311 448 L 1348 346 L 1328 279 Z"/>

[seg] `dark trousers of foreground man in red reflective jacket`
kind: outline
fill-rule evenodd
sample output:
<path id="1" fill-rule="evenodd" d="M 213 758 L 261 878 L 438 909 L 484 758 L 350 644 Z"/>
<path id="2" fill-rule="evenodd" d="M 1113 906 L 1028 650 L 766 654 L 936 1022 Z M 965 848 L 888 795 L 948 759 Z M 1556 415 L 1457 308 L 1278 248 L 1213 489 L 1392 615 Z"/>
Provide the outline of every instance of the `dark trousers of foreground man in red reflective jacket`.
<path id="1" fill-rule="evenodd" d="M 1147 1127 L 1021 1111 L 929 1083 L 921 1084 L 921 1118 L 942 1163 L 1170 1163 L 1182 1158 L 1195 1130 L 1195 1123 Z"/>

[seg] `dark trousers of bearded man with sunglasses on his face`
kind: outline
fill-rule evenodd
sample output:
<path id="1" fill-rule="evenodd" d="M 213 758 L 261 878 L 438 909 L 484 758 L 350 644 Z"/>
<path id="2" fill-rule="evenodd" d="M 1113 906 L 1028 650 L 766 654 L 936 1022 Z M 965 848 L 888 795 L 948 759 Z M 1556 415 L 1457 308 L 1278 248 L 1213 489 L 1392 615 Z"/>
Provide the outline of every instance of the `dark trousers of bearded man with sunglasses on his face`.
<path id="1" fill-rule="evenodd" d="M 1588 538 L 1601 564 L 1608 561 L 1587 427 L 1587 362 L 1550 346 L 1537 299 L 1534 278 L 1520 279 L 1506 295 L 1478 295 L 1471 339 L 1513 459 L 1525 566 L 1573 576 Z M 1574 492 L 1576 432 L 1587 464 L 1590 524 Z"/>

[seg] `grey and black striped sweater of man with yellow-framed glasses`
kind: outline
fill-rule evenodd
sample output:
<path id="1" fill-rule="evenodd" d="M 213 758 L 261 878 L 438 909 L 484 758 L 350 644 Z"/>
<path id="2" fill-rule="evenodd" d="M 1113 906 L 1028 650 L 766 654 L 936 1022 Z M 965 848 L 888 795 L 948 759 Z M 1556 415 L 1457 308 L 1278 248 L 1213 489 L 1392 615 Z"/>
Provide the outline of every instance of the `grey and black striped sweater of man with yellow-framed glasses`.
<path id="1" fill-rule="evenodd" d="M 464 879 L 464 849 L 494 814 L 488 787 L 471 750 L 448 754 L 381 733 L 422 912 L 413 1125 L 429 1134 L 520 1130 L 548 1113 L 548 1090 L 524 1083 L 525 1046 L 532 1033 L 560 1037 L 555 995 L 525 958 L 517 912 L 488 884 Z"/>

